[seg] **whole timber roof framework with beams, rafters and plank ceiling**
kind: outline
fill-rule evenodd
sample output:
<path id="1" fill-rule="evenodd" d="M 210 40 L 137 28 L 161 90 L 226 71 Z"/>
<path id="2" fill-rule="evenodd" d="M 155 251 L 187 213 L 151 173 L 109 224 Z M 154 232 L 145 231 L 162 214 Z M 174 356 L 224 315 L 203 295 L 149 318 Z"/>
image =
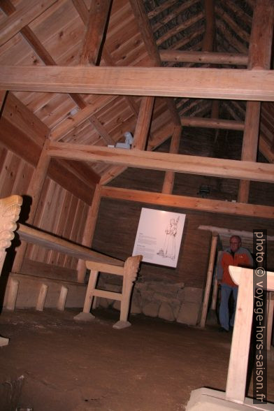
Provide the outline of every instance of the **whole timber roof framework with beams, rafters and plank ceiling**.
<path id="1" fill-rule="evenodd" d="M 273 2 L 240 3 L 0 1 L 0 140 L 34 167 L 29 224 L 48 177 L 87 204 L 82 245 L 101 197 L 273 218 L 249 203 L 250 181 L 274 181 Z M 180 154 L 184 127 L 243 132 L 241 159 Z M 125 131 L 131 150 L 115 147 Z M 161 192 L 108 187 L 127 167 L 164 171 Z M 239 180 L 238 200 L 173 195 L 175 173 Z"/>

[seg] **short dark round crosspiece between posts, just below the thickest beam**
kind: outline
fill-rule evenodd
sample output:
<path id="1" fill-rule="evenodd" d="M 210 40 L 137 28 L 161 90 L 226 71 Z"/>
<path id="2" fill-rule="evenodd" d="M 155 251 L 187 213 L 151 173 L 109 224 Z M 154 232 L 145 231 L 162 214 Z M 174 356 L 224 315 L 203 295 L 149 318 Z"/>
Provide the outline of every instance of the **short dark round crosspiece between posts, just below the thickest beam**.
<path id="1" fill-rule="evenodd" d="M 243 131 L 243 129 L 245 128 L 244 122 L 207 117 L 181 117 L 181 124 L 185 127 L 203 127 L 205 129 Z"/>

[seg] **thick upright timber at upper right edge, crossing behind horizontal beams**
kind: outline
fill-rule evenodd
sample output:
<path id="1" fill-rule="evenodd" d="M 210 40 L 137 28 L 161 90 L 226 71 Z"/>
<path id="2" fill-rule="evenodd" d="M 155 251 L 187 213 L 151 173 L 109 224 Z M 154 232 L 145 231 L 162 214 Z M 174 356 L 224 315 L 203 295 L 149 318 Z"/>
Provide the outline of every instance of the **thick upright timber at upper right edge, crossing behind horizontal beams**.
<path id="1" fill-rule="evenodd" d="M 249 61 L 247 66 L 250 71 L 253 69 L 270 69 L 273 24 L 273 1 L 257 0 L 253 13 Z M 261 103 L 259 101 L 247 101 L 241 156 L 242 160 L 256 161 L 257 159 L 260 113 Z M 240 203 L 247 203 L 249 194 L 250 182 L 240 180 L 238 201 Z"/>

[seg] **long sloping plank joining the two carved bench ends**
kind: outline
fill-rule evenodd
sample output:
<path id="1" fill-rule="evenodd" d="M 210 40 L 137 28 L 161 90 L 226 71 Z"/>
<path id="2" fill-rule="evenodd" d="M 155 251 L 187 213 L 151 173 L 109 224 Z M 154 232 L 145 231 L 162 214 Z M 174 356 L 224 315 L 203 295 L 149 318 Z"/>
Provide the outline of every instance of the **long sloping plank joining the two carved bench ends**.
<path id="1" fill-rule="evenodd" d="M 22 240 L 27 241 L 28 243 L 34 243 L 41 245 L 42 247 L 50 248 L 50 250 L 64 252 L 65 254 L 69 254 L 70 256 L 78 259 L 98 261 L 103 264 L 113 264 L 115 266 L 124 265 L 124 261 L 105 256 L 82 245 L 71 243 L 63 238 L 52 236 L 52 234 L 45 233 L 44 231 L 39 231 L 38 229 L 25 226 L 24 224 L 18 224 L 18 226 L 19 228 L 17 229 L 17 233 Z"/>

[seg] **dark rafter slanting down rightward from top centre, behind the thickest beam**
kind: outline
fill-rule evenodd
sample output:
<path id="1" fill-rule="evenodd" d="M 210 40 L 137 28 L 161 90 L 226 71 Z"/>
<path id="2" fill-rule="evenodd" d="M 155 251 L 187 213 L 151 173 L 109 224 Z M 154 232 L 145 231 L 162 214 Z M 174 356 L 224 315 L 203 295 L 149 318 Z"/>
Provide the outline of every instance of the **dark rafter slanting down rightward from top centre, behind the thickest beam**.
<path id="1" fill-rule="evenodd" d="M 145 6 L 142 0 L 129 0 L 131 3 L 131 8 L 134 12 L 136 22 L 140 29 L 140 33 L 145 43 L 145 48 L 147 53 L 152 59 L 152 62 L 156 66 L 161 66 L 161 59 L 159 56 L 159 51 L 157 45 L 153 38 L 152 29 L 150 27 L 150 22 L 147 18 L 147 13 L 145 11 Z M 173 100 L 167 101 L 168 110 L 171 112 L 171 118 L 176 125 L 180 125 L 180 117 L 178 111 L 176 110 L 175 102 Z"/>

